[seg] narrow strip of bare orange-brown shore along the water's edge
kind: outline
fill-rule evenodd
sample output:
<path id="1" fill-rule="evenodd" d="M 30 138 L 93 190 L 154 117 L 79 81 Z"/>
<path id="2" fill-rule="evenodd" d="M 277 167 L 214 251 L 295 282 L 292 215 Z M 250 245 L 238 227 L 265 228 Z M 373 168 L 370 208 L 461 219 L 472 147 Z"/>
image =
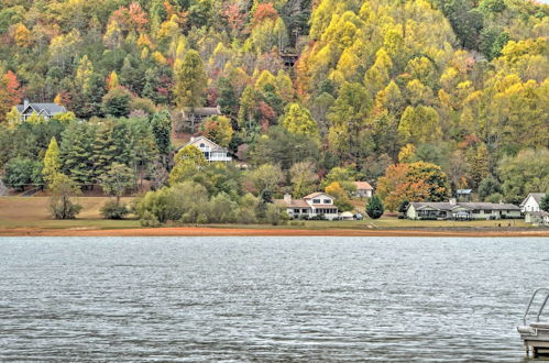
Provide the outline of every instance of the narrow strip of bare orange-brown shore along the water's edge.
<path id="1" fill-rule="evenodd" d="M 234 229 L 234 228 L 156 228 L 156 229 L 0 229 L 0 237 L 549 237 L 549 230 L 450 230 L 450 229 Z"/>

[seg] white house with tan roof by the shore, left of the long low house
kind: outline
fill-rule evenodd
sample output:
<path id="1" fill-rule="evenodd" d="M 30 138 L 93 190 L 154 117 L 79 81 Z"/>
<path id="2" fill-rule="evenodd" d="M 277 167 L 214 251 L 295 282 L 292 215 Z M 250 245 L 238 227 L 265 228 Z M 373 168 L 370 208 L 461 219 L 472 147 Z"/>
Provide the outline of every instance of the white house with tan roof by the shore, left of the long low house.
<path id="1" fill-rule="evenodd" d="M 333 197 L 326 193 L 314 193 L 301 199 L 293 199 L 289 194 L 284 199 L 275 200 L 275 205 L 285 208 L 289 217 L 314 218 L 323 215 L 326 219 L 333 220 L 339 217 L 338 207 L 333 205 Z"/>

